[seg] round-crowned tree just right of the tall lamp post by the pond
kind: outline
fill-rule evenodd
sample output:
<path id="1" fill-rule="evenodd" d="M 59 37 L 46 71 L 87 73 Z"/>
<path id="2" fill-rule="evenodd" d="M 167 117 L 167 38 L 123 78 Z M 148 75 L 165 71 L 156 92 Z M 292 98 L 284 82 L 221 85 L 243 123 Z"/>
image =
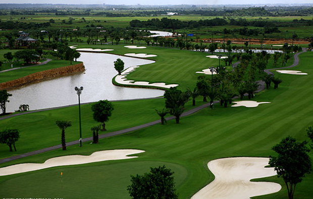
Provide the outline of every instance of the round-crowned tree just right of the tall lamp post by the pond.
<path id="1" fill-rule="evenodd" d="M 93 119 L 102 123 L 101 130 L 107 130 L 105 122 L 109 121 L 109 117 L 112 115 L 113 104 L 108 100 L 100 100 L 91 105 L 91 110 L 93 111 Z"/>

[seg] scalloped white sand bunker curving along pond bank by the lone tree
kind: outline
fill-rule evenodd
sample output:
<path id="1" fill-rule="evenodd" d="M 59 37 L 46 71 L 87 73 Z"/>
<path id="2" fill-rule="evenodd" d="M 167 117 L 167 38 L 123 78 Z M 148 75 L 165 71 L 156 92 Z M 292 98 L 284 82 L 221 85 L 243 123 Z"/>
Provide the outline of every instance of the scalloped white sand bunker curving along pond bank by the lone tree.
<path id="1" fill-rule="evenodd" d="M 168 84 L 165 83 L 149 83 L 149 82 L 134 82 L 133 80 L 127 80 L 126 76 L 135 71 L 138 67 L 129 67 L 125 71 L 122 72 L 122 75 L 118 75 L 115 77 L 115 81 L 122 85 L 137 85 L 137 86 L 153 86 L 153 87 L 162 87 L 162 88 L 171 88 L 176 87 L 178 84 Z"/>

